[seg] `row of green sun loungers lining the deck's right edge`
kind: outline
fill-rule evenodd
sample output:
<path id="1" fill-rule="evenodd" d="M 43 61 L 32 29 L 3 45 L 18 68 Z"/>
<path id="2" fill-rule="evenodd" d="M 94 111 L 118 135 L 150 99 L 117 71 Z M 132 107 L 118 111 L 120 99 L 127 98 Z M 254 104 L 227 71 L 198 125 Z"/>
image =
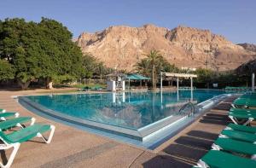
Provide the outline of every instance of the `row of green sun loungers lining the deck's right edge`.
<path id="1" fill-rule="evenodd" d="M 241 99 L 247 100 L 241 103 Z M 248 106 L 248 102 L 254 101 L 254 93 L 244 94 L 233 101 L 229 117 L 234 124 L 227 125 L 221 131 L 218 139 L 212 144 L 212 150 L 204 155 L 194 168 L 256 167 L 256 127 L 249 126 L 256 119 L 256 109 L 252 109 L 256 107 L 256 103 L 255 106 Z"/>

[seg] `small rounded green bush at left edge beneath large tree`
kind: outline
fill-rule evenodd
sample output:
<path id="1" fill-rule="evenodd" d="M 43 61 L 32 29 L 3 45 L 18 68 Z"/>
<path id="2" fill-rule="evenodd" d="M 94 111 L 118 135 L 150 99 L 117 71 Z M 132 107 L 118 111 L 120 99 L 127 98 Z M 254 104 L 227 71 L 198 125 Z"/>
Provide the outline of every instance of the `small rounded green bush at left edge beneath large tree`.
<path id="1" fill-rule="evenodd" d="M 0 81 L 15 78 L 15 69 L 6 60 L 0 60 Z"/>

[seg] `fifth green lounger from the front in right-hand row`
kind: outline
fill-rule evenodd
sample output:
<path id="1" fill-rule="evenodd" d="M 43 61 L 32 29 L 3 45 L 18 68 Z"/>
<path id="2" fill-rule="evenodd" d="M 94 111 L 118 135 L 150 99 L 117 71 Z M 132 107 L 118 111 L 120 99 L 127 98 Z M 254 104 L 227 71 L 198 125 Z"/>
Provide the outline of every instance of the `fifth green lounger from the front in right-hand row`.
<path id="1" fill-rule="evenodd" d="M 256 113 L 240 113 L 240 112 L 230 112 L 229 118 L 236 124 L 248 125 L 254 119 L 256 119 Z M 239 121 L 242 119 L 243 121 Z"/>

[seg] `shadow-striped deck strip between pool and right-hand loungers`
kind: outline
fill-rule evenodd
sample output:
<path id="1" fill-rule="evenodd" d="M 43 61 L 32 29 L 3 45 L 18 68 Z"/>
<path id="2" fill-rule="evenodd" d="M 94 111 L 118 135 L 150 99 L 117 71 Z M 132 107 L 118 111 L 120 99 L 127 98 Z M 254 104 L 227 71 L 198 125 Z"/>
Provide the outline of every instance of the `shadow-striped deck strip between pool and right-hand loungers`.
<path id="1" fill-rule="evenodd" d="M 227 116 L 230 104 L 236 99 L 232 96 L 221 101 L 215 107 L 201 117 L 186 134 L 179 136 L 171 145 L 164 148 L 153 159 L 143 163 L 143 167 L 178 167 L 189 168 L 195 165 L 201 157 L 211 149 L 212 143 L 218 138 L 218 134 L 228 125 L 230 119 Z"/>

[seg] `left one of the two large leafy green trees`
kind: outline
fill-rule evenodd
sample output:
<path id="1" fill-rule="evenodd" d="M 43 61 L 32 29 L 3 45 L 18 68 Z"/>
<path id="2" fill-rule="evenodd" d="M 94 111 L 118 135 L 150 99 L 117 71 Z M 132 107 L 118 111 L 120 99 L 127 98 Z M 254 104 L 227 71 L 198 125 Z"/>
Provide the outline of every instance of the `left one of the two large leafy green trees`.
<path id="1" fill-rule="evenodd" d="M 0 55 L 15 67 L 15 78 L 22 89 L 38 74 L 35 61 L 38 57 L 36 45 L 37 24 L 23 19 L 6 19 L 0 32 Z"/>

